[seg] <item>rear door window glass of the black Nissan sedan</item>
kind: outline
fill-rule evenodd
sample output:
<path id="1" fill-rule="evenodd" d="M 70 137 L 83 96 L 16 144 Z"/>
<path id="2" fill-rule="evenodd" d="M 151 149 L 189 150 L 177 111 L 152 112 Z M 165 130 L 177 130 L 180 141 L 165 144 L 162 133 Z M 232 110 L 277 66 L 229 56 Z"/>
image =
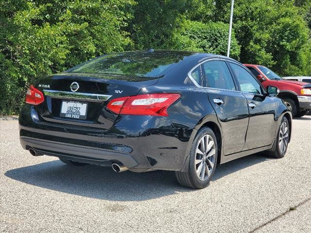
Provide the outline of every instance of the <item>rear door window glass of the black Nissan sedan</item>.
<path id="1" fill-rule="evenodd" d="M 236 90 L 230 71 L 224 61 L 206 62 L 202 67 L 208 87 Z"/>

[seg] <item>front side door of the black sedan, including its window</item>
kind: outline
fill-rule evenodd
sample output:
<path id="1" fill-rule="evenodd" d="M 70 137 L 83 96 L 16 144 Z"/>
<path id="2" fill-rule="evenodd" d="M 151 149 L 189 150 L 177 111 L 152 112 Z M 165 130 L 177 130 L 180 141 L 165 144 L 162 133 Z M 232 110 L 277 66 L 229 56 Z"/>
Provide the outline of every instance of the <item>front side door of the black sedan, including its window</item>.
<path id="1" fill-rule="evenodd" d="M 273 142 L 276 128 L 276 105 L 272 97 L 265 95 L 259 81 L 248 69 L 230 62 L 238 88 L 247 99 L 249 124 L 243 150 L 268 146 Z"/>

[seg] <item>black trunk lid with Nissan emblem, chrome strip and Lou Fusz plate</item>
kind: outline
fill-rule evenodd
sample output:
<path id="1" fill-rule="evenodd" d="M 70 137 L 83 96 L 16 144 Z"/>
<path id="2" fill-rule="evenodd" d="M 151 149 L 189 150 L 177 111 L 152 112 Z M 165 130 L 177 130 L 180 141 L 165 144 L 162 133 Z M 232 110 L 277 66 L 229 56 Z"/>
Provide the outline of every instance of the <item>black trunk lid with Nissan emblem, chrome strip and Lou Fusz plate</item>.
<path id="1" fill-rule="evenodd" d="M 81 127 L 109 129 L 116 114 L 105 106 L 110 100 L 134 96 L 158 78 L 60 73 L 40 79 L 35 87 L 45 95 L 37 111 L 42 120 Z"/>

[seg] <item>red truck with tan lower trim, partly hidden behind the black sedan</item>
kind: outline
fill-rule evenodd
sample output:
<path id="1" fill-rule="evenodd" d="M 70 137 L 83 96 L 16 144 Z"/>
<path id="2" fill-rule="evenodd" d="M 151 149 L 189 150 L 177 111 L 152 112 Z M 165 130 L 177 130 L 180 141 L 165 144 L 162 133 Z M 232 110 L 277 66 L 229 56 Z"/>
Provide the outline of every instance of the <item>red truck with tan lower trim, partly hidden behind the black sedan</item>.
<path id="1" fill-rule="evenodd" d="M 264 66 L 244 64 L 259 79 L 262 85 L 275 86 L 280 92 L 278 97 L 284 100 L 293 116 L 306 115 L 311 109 L 311 84 L 285 80 Z"/>

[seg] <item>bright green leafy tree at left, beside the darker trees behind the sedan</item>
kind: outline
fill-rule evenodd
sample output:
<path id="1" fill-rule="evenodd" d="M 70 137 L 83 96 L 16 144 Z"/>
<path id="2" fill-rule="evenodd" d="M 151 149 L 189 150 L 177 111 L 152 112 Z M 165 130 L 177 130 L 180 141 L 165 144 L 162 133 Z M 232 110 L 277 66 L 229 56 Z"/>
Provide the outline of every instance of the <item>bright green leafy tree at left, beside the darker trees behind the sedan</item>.
<path id="1" fill-rule="evenodd" d="M 14 114 L 25 86 L 132 43 L 124 31 L 134 0 L 2 0 L 0 112 Z"/>

